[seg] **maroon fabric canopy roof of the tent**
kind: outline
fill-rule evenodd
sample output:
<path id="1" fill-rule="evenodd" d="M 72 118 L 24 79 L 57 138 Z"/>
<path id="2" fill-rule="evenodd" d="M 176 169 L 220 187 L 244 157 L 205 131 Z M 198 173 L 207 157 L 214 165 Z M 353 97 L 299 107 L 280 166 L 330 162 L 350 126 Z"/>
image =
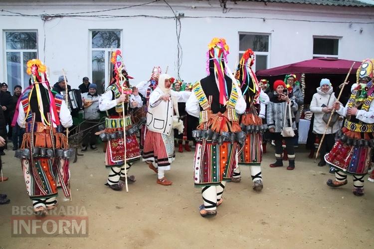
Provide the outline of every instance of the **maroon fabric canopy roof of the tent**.
<path id="1" fill-rule="evenodd" d="M 285 74 L 346 74 L 351 68 L 354 61 L 342 60 L 335 58 L 315 58 L 312 60 L 301 61 L 280 67 L 260 70 L 256 72 L 257 77 L 277 76 Z M 356 74 L 361 62 L 357 61 L 352 69 L 353 74 Z"/>

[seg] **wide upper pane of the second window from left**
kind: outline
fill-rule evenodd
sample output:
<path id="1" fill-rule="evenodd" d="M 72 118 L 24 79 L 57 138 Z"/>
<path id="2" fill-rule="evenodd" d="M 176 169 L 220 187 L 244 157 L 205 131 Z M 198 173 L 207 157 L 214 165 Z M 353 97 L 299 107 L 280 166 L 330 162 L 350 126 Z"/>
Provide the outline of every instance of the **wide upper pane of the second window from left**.
<path id="1" fill-rule="evenodd" d="M 92 48 L 120 48 L 121 31 L 92 31 Z"/>

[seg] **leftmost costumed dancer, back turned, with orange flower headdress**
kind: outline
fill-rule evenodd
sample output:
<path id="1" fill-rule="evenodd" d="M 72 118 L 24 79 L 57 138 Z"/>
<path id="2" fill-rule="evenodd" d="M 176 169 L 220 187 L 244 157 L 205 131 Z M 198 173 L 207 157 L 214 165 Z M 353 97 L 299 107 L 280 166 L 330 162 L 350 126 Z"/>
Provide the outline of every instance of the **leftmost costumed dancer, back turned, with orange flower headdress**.
<path id="1" fill-rule="evenodd" d="M 51 92 L 45 71 L 40 60 L 27 62 L 32 85 L 21 95 L 15 111 L 16 122 L 26 129 L 15 157 L 21 159 L 36 216 L 45 216 L 47 210 L 56 207 L 57 184 L 70 197 L 68 159 L 74 156 L 63 131 L 63 127 L 73 124 L 70 112 L 63 96 Z"/>

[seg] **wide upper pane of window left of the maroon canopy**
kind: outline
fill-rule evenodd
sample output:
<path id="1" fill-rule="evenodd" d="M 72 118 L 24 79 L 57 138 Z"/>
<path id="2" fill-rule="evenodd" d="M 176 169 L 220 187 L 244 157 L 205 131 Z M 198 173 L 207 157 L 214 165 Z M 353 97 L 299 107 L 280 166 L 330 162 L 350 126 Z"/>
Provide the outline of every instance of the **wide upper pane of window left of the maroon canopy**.
<path id="1" fill-rule="evenodd" d="M 239 34 L 239 50 L 245 51 L 248 48 L 256 52 L 268 52 L 269 36 L 259 34 Z"/>

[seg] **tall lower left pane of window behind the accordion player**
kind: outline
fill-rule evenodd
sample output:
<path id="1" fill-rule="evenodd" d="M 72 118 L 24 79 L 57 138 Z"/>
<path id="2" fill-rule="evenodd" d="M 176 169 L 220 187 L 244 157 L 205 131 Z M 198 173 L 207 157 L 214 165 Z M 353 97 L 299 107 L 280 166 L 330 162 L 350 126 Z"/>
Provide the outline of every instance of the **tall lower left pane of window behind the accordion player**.
<path id="1" fill-rule="evenodd" d="M 97 85 L 98 94 L 105 88 L 105 51 L 92 51 L 92 83 Z"/>

